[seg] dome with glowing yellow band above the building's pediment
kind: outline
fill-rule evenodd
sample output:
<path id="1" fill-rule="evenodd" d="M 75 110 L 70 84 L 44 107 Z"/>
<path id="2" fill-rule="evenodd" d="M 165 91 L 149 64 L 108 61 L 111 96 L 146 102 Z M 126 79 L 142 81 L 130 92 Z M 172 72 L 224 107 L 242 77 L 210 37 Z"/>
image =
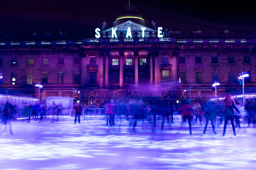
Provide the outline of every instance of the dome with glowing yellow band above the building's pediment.
<path id="1" fill-rule="evenodd" d="M 128 20 L 142 26 L 147 25 L 147 20 L 145 17 L 143 17 L 143 15 L 133 5 L 127 5 L 126 11 L 117 17 L 117 19 L 113 22 L 113 26 L 117 26 Z"/>

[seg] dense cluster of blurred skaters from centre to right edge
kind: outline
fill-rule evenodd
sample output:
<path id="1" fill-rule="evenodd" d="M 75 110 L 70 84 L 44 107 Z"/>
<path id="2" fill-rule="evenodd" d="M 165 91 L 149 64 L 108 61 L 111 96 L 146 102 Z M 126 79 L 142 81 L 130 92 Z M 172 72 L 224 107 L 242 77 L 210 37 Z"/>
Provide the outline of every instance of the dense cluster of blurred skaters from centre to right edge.
<path id="1" fill-rule="evenodd" d="M 110 100 L 104 106 L 101 105 L 101 108 L 103 107 L 105 108 L 107 117 L 107 126 L 114 126 L 115 117 L 119 117 L 121 120 L 121 116 L 123 116 L 128 121 L 133 121 L 133 123 L 130 123 L 133 125 L 133 132 L 135 132 L 135 127 L 139 119 L 147 119 L 148 121 L 153 119 L 152 124 L 155 127 L 156 119 L 162 118 L 161 129 L 163 130 L 165 122 L 174 124 L 174 113 L 182 115 L 183 123 L 188 122 L 190 135 L 192 135 L 192 124 L 199 122 L 201 125 L 203 118 L 205 119 L 205 126 L 202 131 L 203 134 L 206 133 L 209 121 L 215 135 L 217 134 L 215 125 L 217 124 L 219 127 L 224 122 L 223 136 L 225 136 L 227 125 L 229 124 L 231 124 L 233 134 L 236 136 L 236 127 L 241 127 L 241 118 L 247 121 L 247 127 L 250 127 L 251 123 L 253 123 L 254 126 L 256 125 L 256 102 L 247 102 L 246 107 L 243 107 L 243 105 L 237 99 L 233 99 L 230 94 L 227 94 L 223 101 L 209 100 L 204 104 L 200 102 L 191 103 L 189 100 L 185 99 L 178 105 L 169 98 L 166 98 L 162 101 L 154 101 L 152 105 L 148 105 L 141 100 L 130 99 L 127 103 Z"/>

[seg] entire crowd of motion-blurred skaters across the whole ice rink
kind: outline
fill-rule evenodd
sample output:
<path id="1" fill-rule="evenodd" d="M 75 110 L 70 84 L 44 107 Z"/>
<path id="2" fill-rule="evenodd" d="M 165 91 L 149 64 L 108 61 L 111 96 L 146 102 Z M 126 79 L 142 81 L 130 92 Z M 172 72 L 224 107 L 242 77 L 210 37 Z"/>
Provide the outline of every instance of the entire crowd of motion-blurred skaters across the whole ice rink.
<path id="1" fill-rule="evenodd" d="M 14 108 L 8 101 L 0 103 L 0 120 L 1 127 L 4 126 L 3 132 L 6 131 L 7 124 L 10 125 L 10 134 L 13 134 L 10 119 L 13 119 Z M 78 122 L 80 124 L 80 116 L 83 114 L 84 119 L 87 119 L 86 110 L 87 105 L 82 105 L 75 102 L 73 105 L 74 110 L 74 124 Z M 147 120 L 152 123 L 152 126 L 156 126 L 156 120 L 161 120 L 161 129 L 164 129 L 165 122 L 169 124 L 174 124 L 174 113 L 182 116 L 183 123 L 188 122 L 189 133 L 192 134 L 192 125 L 199 122 L 205 122 L 203 134 L 206 133 L 209 121 L 211 122 L 212 131 L 216 133 L 215 126 L 220 126 L 224 120 L 223 133 L 226 133 L 226 128 L 228 124 L 231 124 L 233 129 L 233 134 L 236 136 L 236 127 L 240 128 L 240 119 L 243 118 L 247 121 L 247 127 L 250 124 L 256 124 L 256 102 L 247 102 L 246 107 L 236 99 L 231 98 L 228 94 L 224 101 L 208 101 L 207 103 L 200 102 L 190 102 L 184 99 L 179 104 L 175 101 L 173 102 L 169 98 L 163 100 L 155 100 L 152 104 L 143 102 L 142 100 L 129 99 L 128 102 L 117 102 L 110 100 L 105 104 L 100 105 L 101 115 L 106 117 L 106 126 L 115 126 L 115 118 L 119 119 L 119 124 L 122 120 L 129 121 L 129 125 L 132 127 L 132 132 L 136 132 L 136 126 L 139 120 Z M 39 104 L 38 102 L 34 105 L 25 106 L 22 112 L 22 116 L 26 117 L 29 123 L 31 119 L 38 120 L 41 122 L 46 118 L 46 114 L 50 115 L 52 122 L 58 121 L 59 117 L 62 118 L 62 104 L 56 104 L 54 101 L 50 105 Z M 63 119 L 63 118 L 62 118 Z M 203 121 L 205 120 L 205 121 Z M 183 125 L 182 123 L 182 125 Z"/>

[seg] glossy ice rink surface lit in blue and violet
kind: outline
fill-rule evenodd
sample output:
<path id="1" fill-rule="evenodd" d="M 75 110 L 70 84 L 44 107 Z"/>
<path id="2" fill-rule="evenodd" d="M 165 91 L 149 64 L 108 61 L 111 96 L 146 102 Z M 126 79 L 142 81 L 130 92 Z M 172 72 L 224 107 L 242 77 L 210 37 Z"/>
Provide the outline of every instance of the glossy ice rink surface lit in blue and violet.
<path id="1" fill-rule="evenodd" d="M 14 135 L 0 133 L 0 170 L 255 170 L 256 128 L 241 124 L 237 136 L 231 127 L 222 136 L 223 125 L 192 125 L 180 116 L 174 124 L 162 118 L 140 120 L 136 133 L 131 122 L 116 117 L 106 126 L 105 116 L 91 115 L 81 124 L 73 117 L 62 121 L 17 120 L 11 122 Z M 203 124 L 204 122 L 202 122 Z M 120 125 L 121 124 L 121 125 Z M 0 131 L 3 130 L 3 125 Z"/>

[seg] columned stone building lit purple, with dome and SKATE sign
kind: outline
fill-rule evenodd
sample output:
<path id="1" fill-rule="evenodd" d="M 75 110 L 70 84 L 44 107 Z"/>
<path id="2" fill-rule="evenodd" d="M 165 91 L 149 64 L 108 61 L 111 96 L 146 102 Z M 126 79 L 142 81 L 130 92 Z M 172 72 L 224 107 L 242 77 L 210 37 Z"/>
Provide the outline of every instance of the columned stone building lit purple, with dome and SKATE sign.
<path id="1" fill-rule="evenodd" d="M 220 83 L 217 95 L 241 89 L 237 77 L 244 71 L 250 74 L 246 86 L 255 86 L 256 37 L 229 30 L 206 36 L 202 31 L 159 32 L 129 6 L 113 27 L 95 32 L 98 38 L 2 39 L 0 86 L 37 97 L 35 84 L 41 83 L 40 99 L 73 97 L 76 88 L 81 93 L 74 92 L 74 98 L 89 105 L 128 98 L 150 102 L 155 97 L 202 102 L 215 96 L 215 81 Z M 184 92 L 188 87 L 191 92 Z"/>

